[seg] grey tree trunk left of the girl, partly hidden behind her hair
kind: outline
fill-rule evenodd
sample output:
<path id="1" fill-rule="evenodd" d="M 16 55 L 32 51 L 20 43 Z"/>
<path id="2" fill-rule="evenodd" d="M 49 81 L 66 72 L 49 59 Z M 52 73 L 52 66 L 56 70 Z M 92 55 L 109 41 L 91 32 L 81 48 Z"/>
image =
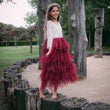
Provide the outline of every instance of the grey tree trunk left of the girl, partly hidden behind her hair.
<path id="1" fill-rule="evenodd" d="M 42 54 L 42 46 L 44 44 L 44 23 L 45 23 L 45 15 L 48 5 L 50 4 L 50 0 L 38 0 L 38 33 L 39 33 L 39 57 Z M 41 64 L 39 63 L 39 69 L 41 68 Z"/>

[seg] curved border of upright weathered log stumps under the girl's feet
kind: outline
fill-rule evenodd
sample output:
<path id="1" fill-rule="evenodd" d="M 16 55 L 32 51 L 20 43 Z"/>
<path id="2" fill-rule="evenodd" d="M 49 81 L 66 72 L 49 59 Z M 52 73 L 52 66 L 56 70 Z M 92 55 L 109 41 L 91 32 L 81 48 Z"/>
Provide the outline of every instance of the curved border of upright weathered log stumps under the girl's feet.
<path id="1" fill-rule="evenodd" d="M 28 58 L 10 65 L 4 71 L 4 89 L 9 110 L 110 110 L 110 105 L 100 102 L 89 103 L 85 98 L 59 94 L 51 99 L 51 93 L 45 90 L 46 98 L 40 99 L 39 88 L 30 88 L 27 80 L 22 79 L 22 68 L 38 63 L 39 58 Z"/>

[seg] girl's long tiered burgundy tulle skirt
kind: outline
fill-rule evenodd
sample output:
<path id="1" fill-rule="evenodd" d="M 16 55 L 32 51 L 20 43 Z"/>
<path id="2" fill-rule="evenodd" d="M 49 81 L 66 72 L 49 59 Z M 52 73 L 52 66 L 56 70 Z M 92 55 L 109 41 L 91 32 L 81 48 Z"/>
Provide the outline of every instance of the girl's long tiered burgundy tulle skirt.
<path id="1" fill-rule="evenodd" d="M 64 38 L 54 38 L 52 49 L 47 56 L 47 40 L 42 48 L 40 62 L 42 72 L 40 74 L 41 87 L 44 91 L 46 87 L 52 90 L 58 89 L 59 86 L 75 82 L 78 80 L 77 68 L 73 61 L 73 56 L 69 53 L 69 44 Z"/>

